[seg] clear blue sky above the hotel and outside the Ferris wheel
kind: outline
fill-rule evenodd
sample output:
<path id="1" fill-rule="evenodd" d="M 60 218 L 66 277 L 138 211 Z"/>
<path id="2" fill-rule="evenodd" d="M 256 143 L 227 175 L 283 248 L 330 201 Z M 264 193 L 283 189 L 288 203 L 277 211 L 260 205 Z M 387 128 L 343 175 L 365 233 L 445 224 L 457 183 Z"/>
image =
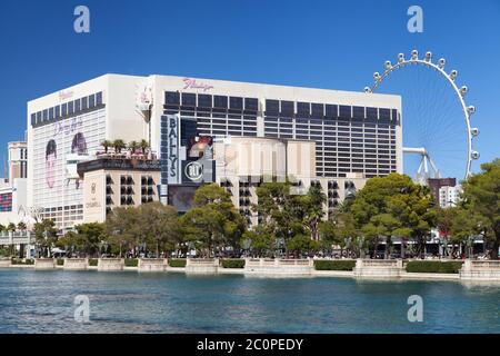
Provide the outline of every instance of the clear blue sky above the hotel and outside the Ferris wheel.
<path id="1" fill-rule="evenodd" d="M 90 8 L 89 34 L 73 31 L 78 4 Z M 411 4 L 423 8 L 423 33 L 407 30 Z M 0 152 L 23 139 L 28 100 L 107 72 L 362 90 L 413 48 L 460 70 L 480 162 L 499 157 L 498 0 L 1 1 Z"/>

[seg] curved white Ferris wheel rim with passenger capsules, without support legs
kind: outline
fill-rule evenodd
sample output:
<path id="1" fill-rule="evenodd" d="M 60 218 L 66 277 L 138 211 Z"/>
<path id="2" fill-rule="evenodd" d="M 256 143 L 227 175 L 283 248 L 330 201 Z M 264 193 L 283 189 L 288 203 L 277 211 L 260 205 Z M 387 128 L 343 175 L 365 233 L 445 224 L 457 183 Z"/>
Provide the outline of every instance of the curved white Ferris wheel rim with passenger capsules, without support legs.
<path id="1" fill-rule="evenodd" d="M 424 59 L 420 59 L 418 51 L 412 50 L 411 51 L 411 58 L 406 59 L 403 53 L 399 53 L 398 56 L 398 62 L 392 65 L 391 61 L 386 61 L 386 70 L 383 73 L 374 72 L 373 79 L 374 85 L 370 87 L 364 88 L 366 93 L 373 93 L 379 86 L 388 78 L 392 72 L 397 71 L 398 69 L 404 68 L 407 66 L 423 66 L 429 69 L 434 69 L 439 75 L 441 75 L 448 83 L 453 89 L 457 98 L 460 101 L 460 105 L 462 107 L 462 112 L 466 121 L 467 127 L 467 162 L 466 162 L 466 175 L 464 179 L 469 178 L 472 175 L 472 161 L 477 160 L 479 158 L 479 152 L 473 150 L 472 142 L 473 138 L 479 136 L 479 130 L 477 128 L 472 128 L 471 126 L 471 117 L 476 112 L 476 107 L 473 106 L 467 106 L 466 103 L 466 95 L 468 92 L 468 87 L 462 86 L 460 89 L 457 86 L 456 79 L 458 76 L 457 70 L 452 70 L 450 73 L 447 73 L 444 71 L 446 67 L 446 59 L 441 58 L 438 63 L 432 62 L 432 52 L 426 52 Z"/>

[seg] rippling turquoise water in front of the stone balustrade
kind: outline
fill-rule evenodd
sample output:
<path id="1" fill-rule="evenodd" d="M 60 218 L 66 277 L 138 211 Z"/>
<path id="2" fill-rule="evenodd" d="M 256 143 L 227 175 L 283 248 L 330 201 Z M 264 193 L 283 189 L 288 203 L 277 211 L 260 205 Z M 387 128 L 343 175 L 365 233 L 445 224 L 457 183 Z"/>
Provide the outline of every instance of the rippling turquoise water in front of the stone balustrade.
<path id="1" fill-rule="evenodd" d="M 0 270 L 0 333 L 500 333 L 499 304 L 499 285 L 454 281 Z"/>

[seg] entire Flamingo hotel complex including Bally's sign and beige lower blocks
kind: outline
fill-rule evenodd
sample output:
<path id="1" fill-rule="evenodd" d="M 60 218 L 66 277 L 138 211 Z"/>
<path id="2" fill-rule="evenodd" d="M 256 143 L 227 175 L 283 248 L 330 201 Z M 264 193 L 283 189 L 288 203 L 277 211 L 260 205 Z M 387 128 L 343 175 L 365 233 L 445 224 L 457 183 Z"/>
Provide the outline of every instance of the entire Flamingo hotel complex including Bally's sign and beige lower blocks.
<path id="1" fill-rule="evenodd" d="M 320 185 L 331 212 L 366 180 L 402 172 L 401 98 L 171 76 L 106 75 L 28 102 L 28 206 L 63 231 L 116 206 L 179 211 L 218 182 L 252 224 L 256 187 Z M 146 139 L 143 157 L 103 140 Z"/>

